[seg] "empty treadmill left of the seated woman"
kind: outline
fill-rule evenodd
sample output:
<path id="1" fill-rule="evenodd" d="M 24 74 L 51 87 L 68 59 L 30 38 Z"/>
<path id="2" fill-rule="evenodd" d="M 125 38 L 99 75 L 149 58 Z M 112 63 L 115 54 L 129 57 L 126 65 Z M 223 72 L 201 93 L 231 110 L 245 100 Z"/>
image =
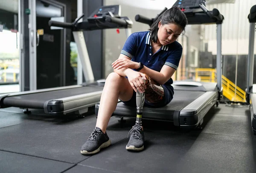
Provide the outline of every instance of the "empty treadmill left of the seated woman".
<path id="1" fill-rule="evenodd" d="M 50 115 L 65 115 L 70 112 L 78 112 L 81 115 L 88 111 L 88 107 L 94 107 L 100 101 L 104 81 L 94 81 L 83 31 L 124 28 L 128 37 L 131 34 L 133 22 L 128 17 L 120 17 L 120 12 L 121 6 L 119 5 L 102 6 L 82 22 L 78 21 L 84 15 L 73 23 L 50 20 L 49 26 L 58 26 L 73 31 L 86 83 L 0 95 L 0 108 L 20 107 L 24 109 L 24 113 L 30 113 L 28 109 L 41 109 Z"/>

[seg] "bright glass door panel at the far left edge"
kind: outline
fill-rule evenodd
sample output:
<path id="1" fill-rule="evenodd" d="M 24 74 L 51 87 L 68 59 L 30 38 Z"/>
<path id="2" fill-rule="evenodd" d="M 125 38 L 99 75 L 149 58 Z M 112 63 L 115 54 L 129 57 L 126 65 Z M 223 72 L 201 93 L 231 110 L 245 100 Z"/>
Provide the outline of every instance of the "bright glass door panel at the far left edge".
<path id="1" fill-rule="evenodd" d="M 0 0 L 0 93 L 20 91 L 19 3 Z"/>

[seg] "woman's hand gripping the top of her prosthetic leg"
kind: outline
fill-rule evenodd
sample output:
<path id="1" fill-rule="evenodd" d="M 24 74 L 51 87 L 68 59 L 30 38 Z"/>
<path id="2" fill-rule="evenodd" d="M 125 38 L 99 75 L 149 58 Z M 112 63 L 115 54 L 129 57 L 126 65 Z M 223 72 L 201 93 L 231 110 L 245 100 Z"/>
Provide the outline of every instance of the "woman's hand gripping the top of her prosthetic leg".
<path id="1" fill-rule="evenodd" d="M 135 92 L 137 92 L 137 89 L 141 93 L 145 92 L 146 86 L 143 81 L 143 79 L 147 80 L 145 74 L 141 72 L 132 71 L 132 72 L 129 72 L 127 77 L 128 77 L 129 83 L 131 84 L 131 87 L 134 89 Z"/>

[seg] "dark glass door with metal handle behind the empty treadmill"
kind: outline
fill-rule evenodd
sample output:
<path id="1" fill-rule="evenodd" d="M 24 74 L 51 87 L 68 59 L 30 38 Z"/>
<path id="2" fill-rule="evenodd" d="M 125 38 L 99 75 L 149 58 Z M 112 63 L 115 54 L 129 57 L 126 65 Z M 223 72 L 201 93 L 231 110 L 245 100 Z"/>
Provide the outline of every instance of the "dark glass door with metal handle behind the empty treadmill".
<path id="1" fill-rule="evenodd" d="M 50 28 L 49 20 L 65 21 L 65 5 L 53 0 L 29 0 L 30 90 L 65 85 L 66 30 Z"/>

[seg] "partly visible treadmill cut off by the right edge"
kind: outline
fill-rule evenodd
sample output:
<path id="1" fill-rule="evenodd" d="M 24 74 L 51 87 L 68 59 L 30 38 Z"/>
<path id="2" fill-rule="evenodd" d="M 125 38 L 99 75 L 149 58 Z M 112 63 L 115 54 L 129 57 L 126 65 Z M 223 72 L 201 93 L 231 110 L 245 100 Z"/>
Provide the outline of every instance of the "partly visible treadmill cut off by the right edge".
<path id="1" fill-rule="evenodd" d="M 250 9 L 248 15 L 250 22 L 249 31 L 249 54 L 247 60 L 247 88 L 246 101 L 250 104 L 251 121 L 253 134 L 256 135 L 256 84 L 253 84 L 253 67 L 254 67 L 254 38 L 255 38 L 255 23 L 256 23 L 256 5 Z"/>

